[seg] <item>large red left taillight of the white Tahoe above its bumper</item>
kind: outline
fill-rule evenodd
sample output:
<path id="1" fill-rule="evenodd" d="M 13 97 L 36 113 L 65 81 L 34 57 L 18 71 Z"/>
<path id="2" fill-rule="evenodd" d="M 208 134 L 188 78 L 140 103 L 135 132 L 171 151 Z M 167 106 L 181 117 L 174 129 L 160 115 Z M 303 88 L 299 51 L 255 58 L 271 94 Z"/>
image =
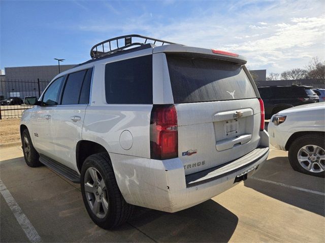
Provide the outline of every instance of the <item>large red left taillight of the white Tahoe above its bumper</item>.
<path id="1" fill-rule="evenodd" d="M 150 117 L 150 157 L 178 156 L 177 112 L 174 105 L 153 105 Z"/>

